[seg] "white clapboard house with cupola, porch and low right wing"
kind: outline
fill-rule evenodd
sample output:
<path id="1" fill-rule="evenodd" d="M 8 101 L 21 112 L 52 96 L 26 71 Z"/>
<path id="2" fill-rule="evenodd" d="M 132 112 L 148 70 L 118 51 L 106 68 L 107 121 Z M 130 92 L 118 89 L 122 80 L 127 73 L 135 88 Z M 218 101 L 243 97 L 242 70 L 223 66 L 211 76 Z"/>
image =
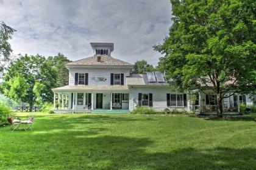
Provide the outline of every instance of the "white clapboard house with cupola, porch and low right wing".
<path id="1" fill-rule="evenodd" d="M 132 64 L 112 57 L 113 43 L 90 44 L 93 57 L 67 63 L 69 85 L 52 89 L 54 112 L 129 113 L 138 106 L 216 112 L 213 96 L 198 93 L 191 102 L 190 94 L 173 90 L 162 73 L 130 74 Z M 224 100 L 224 111 L 239 112 L 239 102 L 252 104 L 236 94 Z"/>

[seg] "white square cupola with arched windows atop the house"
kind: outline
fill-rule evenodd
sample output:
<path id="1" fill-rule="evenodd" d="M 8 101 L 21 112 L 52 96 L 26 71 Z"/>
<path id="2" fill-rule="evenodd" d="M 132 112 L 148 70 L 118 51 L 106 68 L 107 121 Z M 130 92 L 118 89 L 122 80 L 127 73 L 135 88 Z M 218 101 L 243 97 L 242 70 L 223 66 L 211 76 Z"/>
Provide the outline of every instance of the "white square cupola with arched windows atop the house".
<path id="1" fill-rule="evenodd" d="M 111 55 L 114 43 L 90 43 L 94 55 Z"/>

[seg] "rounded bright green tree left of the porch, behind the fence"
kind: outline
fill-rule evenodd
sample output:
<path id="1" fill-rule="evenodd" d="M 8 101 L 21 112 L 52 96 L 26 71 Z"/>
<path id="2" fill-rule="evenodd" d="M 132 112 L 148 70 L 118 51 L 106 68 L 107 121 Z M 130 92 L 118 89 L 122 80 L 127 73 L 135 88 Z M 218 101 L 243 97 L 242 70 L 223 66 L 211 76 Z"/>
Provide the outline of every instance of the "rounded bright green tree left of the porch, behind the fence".
<path id="1" fill-rule="evenodd" d="M 51 102 L 56 87 L 57 69 L 40 55 L 24 55 L 11 63 L 4 76 L 4 93 L 14 101 L 26 102 L 32 109 L 35 102 Z"/>

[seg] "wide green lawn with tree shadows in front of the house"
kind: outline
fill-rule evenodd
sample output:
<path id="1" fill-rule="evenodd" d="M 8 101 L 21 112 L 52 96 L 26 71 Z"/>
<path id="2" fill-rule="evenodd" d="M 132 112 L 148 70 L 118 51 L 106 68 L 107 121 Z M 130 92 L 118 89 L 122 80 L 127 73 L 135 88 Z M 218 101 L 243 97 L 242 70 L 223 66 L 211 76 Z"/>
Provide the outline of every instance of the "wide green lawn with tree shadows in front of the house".
<path id="1" fill-rule="evenodd" d="M 33 132 L 0 127 L 0 169 L 256 167 L 254 119 L 32 114 Z"/>

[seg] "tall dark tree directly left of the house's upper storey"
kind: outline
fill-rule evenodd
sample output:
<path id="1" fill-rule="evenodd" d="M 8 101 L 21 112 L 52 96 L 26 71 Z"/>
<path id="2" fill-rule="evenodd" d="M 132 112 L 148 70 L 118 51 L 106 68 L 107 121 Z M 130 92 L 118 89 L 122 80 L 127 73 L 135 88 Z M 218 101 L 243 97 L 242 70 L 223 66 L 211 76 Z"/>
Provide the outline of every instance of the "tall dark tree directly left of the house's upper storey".
<path id="1" fill-rule="evenodd" d="M 71 62 L 71 60 L 60 53 L 54 57 L 48 57 L 48 60 L 50 60 L 57 69 L 58 79 L 56 87 L 68 85 L 69 71 L 65 67 L 65 64 Z"/>

